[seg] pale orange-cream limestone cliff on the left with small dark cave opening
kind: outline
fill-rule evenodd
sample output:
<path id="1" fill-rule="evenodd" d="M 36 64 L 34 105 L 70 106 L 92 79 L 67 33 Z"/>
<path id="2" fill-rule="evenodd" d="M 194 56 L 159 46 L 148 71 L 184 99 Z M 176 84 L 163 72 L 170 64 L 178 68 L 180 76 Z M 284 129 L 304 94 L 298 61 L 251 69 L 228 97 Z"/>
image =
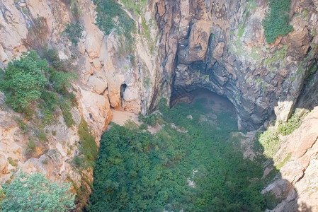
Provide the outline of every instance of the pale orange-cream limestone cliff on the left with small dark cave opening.
<path id="1" fill-rule="evenodd" d="M 153 6 L 148 4 L 143 8 L 142 18 L 150 33 L 147 39 L 142 33 L 135 35 L 135 64 L 132 64 L 129 57 L 120 54 L 120 48 L 125 45 L 120 43 L 120 35 L 113 30 L 106 36 L 95 24 L 95 5 L 90 0 L 76 1 L 76 13 L 79 13 L 79 22 L 84 28 L 76 47 L 63 33 L 67 23 L 76 18 L 74 5 L 69 1 L 0 2 L 0 68 L 23 52 L 47 45 L 57 49 L 60 59 L 75 58 L 72 62 L 79 74 L 79 80 L 73 82 L 79 102 L 71 111 L 74 126 L 68 128 L 62 117 L 56 120 L 57 124 L 45 126 L 43 131 L 47 141 L 37 146 L 32 155 L 26 151 L 30 137 L 34 136 L 35 143 L 40 143 L 35 135 L 37 129 L 30 129 L 25 134 L 21 123 L 29 126 L 32 122 L 5 107 L 4 95 L 0 93 L 0 183 L 6 182 L 19 169 L 42 172 L 54 181 L 72 179 L 77 187 L 83 182 L 83 175 L 93 180 L 92 170 L 83 174 L 73 165 L 80 146 L 77 131 L 81 117 L 88 122 L 98 143 L 112 119 L 111 107 L 135 113 L 147 112 L 157 78 L 160 78 L 157 53 L 149 49 L 149 42 L 156 45 L 159 34 L 155 22 L 150 21 L 154 19 L 149 12 Z M 135 18 L 135 22 L 140 31 L 144 30 L 140 19 Z"/>

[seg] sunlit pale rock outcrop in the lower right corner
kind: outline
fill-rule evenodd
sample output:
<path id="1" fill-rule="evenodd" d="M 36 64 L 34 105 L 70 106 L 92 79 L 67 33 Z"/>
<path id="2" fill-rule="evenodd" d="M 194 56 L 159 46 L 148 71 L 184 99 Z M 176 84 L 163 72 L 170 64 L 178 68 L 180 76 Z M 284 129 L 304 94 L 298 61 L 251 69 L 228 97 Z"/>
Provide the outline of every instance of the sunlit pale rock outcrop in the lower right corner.
<path id="1" fill-rule="evenodd" d="M 317 126 L 318 107 L 314 107 L 300 128 L 281 138 L 283 145 L 274 159 L 276 165 L 284 160 L 285 164 L 280 167 L 280 176 L 263 189 L 283 199 L 273 211 L 317 211 Z"/>

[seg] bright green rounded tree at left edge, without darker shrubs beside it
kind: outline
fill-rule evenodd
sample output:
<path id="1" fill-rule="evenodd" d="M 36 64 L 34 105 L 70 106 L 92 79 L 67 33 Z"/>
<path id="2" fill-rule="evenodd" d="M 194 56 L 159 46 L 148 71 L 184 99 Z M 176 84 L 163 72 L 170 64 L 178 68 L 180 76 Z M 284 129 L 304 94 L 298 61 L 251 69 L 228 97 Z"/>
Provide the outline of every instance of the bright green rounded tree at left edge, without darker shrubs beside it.
<path id="1" fill-rule="evenodd" d="M 0 90 L 6 94 L 6 101 L 17 112 L 25 112 L 40 99 L 48 81 L 44 70 L 47 62 L 35 51 L 24 53 L 21 59 L 8 63 L 4 76 L 0 79 Z"/>

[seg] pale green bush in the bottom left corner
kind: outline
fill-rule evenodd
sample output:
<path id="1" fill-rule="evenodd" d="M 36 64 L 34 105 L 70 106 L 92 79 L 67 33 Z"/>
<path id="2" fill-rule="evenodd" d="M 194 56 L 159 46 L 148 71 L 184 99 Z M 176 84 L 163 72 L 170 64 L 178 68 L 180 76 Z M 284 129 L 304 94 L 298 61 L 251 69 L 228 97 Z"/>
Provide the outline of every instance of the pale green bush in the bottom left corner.
<path id="1" fill-rule="evenodd" d="M 20 173 L 4 184 L 1 211 L 69 211 L 74 208 L 70 184 L 50 182 L 44 175 Z"/>

